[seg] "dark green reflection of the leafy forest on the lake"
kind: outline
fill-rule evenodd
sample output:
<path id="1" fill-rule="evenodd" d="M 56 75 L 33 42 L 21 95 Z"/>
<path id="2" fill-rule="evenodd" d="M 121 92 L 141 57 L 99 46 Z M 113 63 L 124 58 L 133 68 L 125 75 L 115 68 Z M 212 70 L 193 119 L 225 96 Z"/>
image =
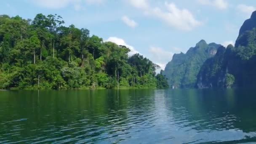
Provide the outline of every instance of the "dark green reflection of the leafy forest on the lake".
<path id="1" fill-rule="evenodd" d="M 96 141 L 125 131 L 123 125 L 141 115 L 136 109 L 150 110 L 150 96 L 151 90 L 8 91 L 0 96 L 5 125 L 0 134 L 20 129 L 19 136 L 9 135 L 9 139 L 80 136 Z"/>

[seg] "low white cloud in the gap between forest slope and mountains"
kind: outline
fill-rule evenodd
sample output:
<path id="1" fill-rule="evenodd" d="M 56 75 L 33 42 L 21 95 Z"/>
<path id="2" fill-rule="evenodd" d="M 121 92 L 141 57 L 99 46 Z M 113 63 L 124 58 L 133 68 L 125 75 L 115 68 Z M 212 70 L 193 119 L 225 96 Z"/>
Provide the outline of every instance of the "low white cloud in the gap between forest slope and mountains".
<path id="1" fill-rule="evenodd" d="M 152 60 L 155 64 L 159 65 L 161 69 L 165 69 L 166 64 L 171 61 L 173 53 L 163 50 L 159 47 L 150 47 L 149 48 L 149 59 Z"/>

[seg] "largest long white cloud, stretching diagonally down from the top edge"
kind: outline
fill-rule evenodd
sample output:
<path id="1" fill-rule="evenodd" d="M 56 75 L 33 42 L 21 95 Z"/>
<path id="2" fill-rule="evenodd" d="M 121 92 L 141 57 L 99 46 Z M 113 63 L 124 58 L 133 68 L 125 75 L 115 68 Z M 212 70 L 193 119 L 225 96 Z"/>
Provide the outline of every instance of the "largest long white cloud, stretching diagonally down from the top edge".
<path id="1" fill-rule="evenodd" d="M 193 14 L 187 9 L 180 9 L 174 3 L 165 2 L 166 11 L 160 7 L 151 7 L 147 0 L 129 0 L 132 6 L 141 9 L 149 16 L 154 16 L 169 26 L 181 29 L 191 30 L 200 26 L 202 22 L 195 19 Z"/>

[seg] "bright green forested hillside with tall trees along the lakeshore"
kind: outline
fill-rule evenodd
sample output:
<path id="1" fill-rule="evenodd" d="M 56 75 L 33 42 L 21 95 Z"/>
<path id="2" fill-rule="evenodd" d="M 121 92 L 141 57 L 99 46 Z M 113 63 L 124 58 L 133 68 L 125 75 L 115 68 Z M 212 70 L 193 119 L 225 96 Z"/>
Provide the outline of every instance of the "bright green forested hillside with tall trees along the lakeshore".
<path id="1" fill-rule="evenodd" d="M 56 14 L 0 16 L 0 89 L 169 87 L 139 53 L 63 24 Z"/>

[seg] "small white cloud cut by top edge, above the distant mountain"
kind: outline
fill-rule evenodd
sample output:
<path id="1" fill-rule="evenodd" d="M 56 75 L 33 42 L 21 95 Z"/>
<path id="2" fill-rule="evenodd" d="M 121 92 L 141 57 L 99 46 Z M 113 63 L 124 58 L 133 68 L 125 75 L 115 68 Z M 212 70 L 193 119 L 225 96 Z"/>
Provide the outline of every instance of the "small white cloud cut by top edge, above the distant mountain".
<path id="1" fill-rule="evenodd" d="M 229 3 L 226 0 L 197 0 L 202 5 L 212 5 L 219 9 L 226 9 Z"/>

